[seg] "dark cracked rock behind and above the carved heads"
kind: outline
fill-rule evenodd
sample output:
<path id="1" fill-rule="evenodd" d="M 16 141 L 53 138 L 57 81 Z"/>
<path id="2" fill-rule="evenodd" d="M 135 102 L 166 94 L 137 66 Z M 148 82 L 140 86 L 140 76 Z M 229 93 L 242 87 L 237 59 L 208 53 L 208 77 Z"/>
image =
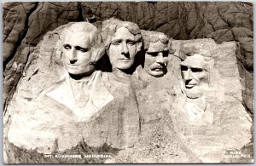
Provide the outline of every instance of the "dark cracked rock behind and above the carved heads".
<path id="1" fill-rule="evenodd" d="M 47 31 L 70 21 L 94 22 L 113 16 L 174 39 L 210 37 L 218 43 L 236 41 L 241 46 L 238 60 L 247 71 L 244 78 L 252 84 L 252 3 L 3 3 L 4 106 L 12 98 L 28 57 Z M 251 112 L 252 89 L 245 86 L 243 90 Z"/>

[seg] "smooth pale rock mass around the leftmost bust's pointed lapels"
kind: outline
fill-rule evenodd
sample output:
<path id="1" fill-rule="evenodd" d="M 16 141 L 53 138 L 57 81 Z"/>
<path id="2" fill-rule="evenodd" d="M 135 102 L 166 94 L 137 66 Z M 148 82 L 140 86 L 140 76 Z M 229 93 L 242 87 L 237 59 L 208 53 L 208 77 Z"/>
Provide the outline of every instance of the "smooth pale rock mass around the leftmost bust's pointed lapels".
<path id="1" fill-rule="evenodd" d="M 62 85 L 60 80 L 65 71 L 58 54 L 58 41 L 63 28 L 70 25 L 72 23 L 49 31 L 25 66 L 26 72 L 20 78 L 3 119 L 6 163 L 102 163 L 104 159 L 65 160 L 47 158 L 43 153 L 109 152 L 113 155 L 134 144 L 139 116 L 135 94 L 128 81 L 124 83 L 113 74 L 104 73 L 103 81 L 98 83 L 108 89 L 113 100 L 85 122 L 80 122 L 69 107 L 49 97 L 49 89 Z M 65 94 L 65 91 L 68 89 L 62 92 Z M 96 93 L 102 93 L 102 89 Z M 96 94 L 96 97 L 106 100 L 107 96 Z"/>

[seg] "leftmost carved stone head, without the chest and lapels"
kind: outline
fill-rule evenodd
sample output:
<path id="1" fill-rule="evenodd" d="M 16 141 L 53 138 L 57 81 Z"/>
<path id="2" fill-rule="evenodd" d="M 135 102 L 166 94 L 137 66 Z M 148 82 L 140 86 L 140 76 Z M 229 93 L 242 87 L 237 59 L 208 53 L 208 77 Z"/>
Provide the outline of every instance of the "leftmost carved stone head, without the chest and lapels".
<path id="1" fill-rule="evenodd" d="M 105 47 L 96 26 L 87 22 L 74 23 L 61 33 L 64 66 L 71 77 L 88 77 L 96 69 Z"/>

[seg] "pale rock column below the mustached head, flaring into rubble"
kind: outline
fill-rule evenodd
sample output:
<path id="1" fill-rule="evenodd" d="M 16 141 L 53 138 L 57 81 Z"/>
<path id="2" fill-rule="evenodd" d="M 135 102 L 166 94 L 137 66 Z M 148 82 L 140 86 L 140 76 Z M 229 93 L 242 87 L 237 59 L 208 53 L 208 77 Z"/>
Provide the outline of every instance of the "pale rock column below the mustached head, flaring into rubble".
<path id="1" fill-rule="evenodd" d="M 169 59 L 172 61 L 173 57 Z M 169 65 L 168 70 L 173 67 L 172 63 Z M 168 72 L 163 77 L 153 77 L 137 68 L 132 84 L 140 112 L 140 136 L 135 146 L 105 163 L 201 163 L 173 127 L 168 110 L 175 105 L 178 79 Z"/>

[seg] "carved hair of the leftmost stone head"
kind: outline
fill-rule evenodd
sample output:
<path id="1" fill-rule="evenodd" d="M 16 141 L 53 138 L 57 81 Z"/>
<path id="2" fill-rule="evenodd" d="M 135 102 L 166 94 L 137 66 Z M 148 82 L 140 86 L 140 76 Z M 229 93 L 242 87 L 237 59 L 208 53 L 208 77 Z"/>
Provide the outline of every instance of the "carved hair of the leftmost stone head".
<path id="1" fill-rule="evenodd" d="M 99 59 L 99 57 L 102 57 L 103 54 L 105 54 L 105 46 L 102 43 L 102 37 L 100 35 L 100 32 L 97 30 L 96 26 L 94 26 L 88 22 L 73 23 L 72 26 L 68 26 L 68 27 L 64 28 L 64 30 L 61 32 L 61 37 L 60 37 L 61 41 L 64 41 L 64 39 L 67 35 L 67 32 L 88 33 L 88 36 L 90 37 L 90 44 L 91 44 L 93 57 L 95 57 L 95 59 Z"/>

